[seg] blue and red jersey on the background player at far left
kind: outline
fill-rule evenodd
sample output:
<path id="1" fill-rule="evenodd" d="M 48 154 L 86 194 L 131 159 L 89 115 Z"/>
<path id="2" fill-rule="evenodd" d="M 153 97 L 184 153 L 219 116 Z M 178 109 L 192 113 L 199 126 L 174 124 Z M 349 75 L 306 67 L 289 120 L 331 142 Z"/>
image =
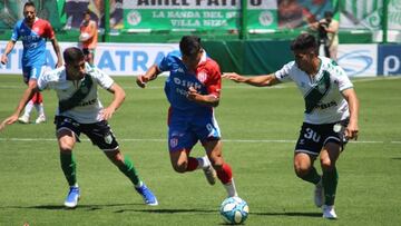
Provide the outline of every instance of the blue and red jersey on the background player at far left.
<path id="1" fill-rule="evenodd" d="M 51 24 L 43 19 L 36 18 L 32 28 L 19 20 L 13 30 L 11 40 L 22 40 L 22 66 L 42 66 L 46 65 L 46 40 L 53 39 L 55 31 Z"/>

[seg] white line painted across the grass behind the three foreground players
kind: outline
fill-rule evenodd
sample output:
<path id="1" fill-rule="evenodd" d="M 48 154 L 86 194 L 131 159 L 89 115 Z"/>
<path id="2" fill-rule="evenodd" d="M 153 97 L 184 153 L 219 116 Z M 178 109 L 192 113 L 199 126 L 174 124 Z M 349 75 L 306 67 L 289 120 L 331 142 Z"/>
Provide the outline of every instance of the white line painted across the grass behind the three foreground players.
<path id="1" fill-rule="evenodd" d="M 89 139 L 80 139 L 82 141 L 89 141 Z M 135 138 L 117 138 L 120 141 L 155 141 L 155 143 L 166 143 L 167 139 L 135 139 Z M 56 138 L 0 138 L 0 141 L 57 141 Z M 283 143 L 283 144 L 294 144 L 296 140 L 286 140 L 286 139 L 223 139 L 224 143 Z M 351 140 L 352 144 L 385 144 L 383 140 Z M 401 145 L 401 141 L 393 140 L 388 141 L 390 144 Z"/>

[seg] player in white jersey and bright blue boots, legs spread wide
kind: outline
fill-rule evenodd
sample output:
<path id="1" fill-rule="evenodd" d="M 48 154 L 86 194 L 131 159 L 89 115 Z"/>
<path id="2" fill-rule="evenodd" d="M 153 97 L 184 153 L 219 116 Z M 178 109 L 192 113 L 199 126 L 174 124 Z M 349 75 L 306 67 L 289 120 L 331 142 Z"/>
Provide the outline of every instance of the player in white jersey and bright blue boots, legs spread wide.
<path id="1" fill-rule="evenodd" d="M 75 208 L 80 196 L 72 148 L 79 141 L 81 132 L 87 135 L 92 144 L 98 146 L 110 161 L 131 180 L 145 204 L 158 205 L 154 194 L 139 178 L 131 160 L 120 153 L 116 137 L 107 122 L 123 104 L 125 99 L 124 89 L 108 75 L 85 62 L 84 52 L 79 48 L 66 49 L 63 59 L 65 67 L 40 76 L 38 86 L 25 91 L 14 114 L 1 122 L 0 130 L 6 125 L 11 125 L 18 120 L 23 106 L 36 91 L 53 89 L 59 99 L 55 124 L 61 168 L 70 186 L 65 206 Z M 98 86 L 114 95 L 114 100 L 108 107 L 102 107 L 98 98 Z"/>

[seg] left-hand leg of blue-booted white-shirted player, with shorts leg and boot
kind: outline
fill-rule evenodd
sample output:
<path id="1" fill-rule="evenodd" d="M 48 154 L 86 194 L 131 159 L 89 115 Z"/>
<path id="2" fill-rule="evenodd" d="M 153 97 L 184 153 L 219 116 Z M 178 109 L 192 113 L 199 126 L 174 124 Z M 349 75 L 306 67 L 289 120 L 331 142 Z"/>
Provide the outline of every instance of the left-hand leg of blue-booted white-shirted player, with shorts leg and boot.
<path id="1" fill-rule="evenodd" d="M 75 208 L 78 205 L 79 187 L 77 181 L 76 161 L 72 149 L 80 134 L 79 125 L 76 121 L 65 117 L 56 117 L 56 135 L 60 149 L 60 164 L 62 173 L 69 185 L 69 193 L 65 200 L 65 206 Z"/>

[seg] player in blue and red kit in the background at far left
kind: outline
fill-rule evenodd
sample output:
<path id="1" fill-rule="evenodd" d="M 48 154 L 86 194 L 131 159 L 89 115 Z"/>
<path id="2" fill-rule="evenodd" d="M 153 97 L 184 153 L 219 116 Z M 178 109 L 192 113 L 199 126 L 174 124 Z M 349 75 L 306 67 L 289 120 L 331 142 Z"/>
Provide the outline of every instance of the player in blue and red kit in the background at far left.
<path id="1" fill-rule="evenodd" d="M 57 55 L 57 67 L 62 66 L 60 47 L 57 42 L 55 31 L 51 24 L 43 19 L 36 17 L 36 8 L 33 2 L 28 1 L 23 6 L 25 19 L 18 21 L 13 28 L 11 40 L 7 43 L 6 50 L 1 57 L 1 63 L 8 62 L 8 55 L 13 49 L 18 39 L 22 40 L 22 73 L 23 81 L 35 89 L 37 80 L 46 69 L 46 40 L 49 39 Z M 42 96 L 36 92 L 32 99 L 27 104 L 25 114 L 19 118 L 20 122 L 28 124 L 32 108 L 38 110 L 36 124 L 46 121 Z"/>

